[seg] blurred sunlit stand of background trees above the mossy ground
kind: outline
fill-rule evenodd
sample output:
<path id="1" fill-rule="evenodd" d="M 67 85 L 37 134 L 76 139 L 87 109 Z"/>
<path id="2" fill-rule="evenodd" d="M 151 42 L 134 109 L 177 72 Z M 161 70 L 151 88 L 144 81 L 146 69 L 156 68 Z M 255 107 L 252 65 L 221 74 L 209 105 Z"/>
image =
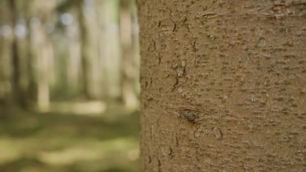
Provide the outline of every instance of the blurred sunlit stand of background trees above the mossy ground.
<path id="1" fill-rule="evenodd" d="M 137 107 L 139 45 L 132 0 L 2 1 L 1 99 L 119 100 Z M 50 104 L 51 102 L 51 104 Z"/>

